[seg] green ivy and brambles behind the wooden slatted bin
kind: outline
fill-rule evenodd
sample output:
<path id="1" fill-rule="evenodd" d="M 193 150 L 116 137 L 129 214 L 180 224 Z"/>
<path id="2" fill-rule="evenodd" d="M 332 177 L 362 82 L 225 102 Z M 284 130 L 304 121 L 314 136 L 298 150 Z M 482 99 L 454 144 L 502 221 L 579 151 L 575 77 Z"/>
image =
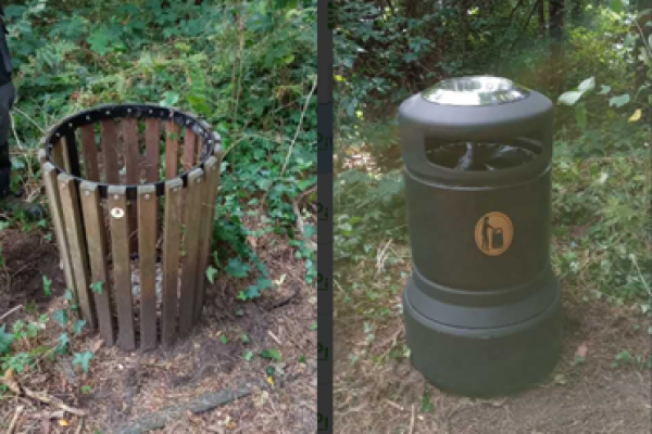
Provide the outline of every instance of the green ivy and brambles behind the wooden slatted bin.
<path id="1" fill-rule="evenodd" d="M 18 93 L 14 191 L 39 188 L 38 141 L 63 116 L 104 103 L 176 106 L 223 137 L 210 279 L 216 271 L 258 277 L 241 299 L 269 288 L 267 268 L 247 242 L 269 231 L 289 235 L 306 279 L 315 278 L 304 239 L 315 230 L 305 225 L 296 233 L 293 207 L 316 199 L 313 2 L 29 0 L 4 12 Z M 248 218 L 260 220 L 255 231 L 246 228 Z"/>

